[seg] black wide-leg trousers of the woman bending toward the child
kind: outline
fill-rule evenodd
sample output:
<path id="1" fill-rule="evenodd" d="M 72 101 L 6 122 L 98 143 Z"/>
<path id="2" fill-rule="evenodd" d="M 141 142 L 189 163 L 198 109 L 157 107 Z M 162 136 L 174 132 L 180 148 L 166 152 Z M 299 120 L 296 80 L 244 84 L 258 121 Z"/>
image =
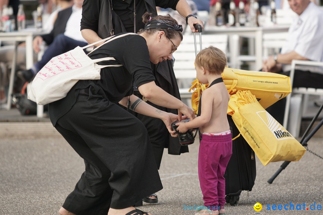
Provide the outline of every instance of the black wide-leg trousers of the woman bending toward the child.
<path id="1" fill-rule="evenodd" d="M 63 207 L 76 214 L 127 208 L 162 189 L 142 122 L 90 86 L 55 128 L 84 159 L 85 171 Z M 68 101 L 67 101 L 68 102 Z"/>

